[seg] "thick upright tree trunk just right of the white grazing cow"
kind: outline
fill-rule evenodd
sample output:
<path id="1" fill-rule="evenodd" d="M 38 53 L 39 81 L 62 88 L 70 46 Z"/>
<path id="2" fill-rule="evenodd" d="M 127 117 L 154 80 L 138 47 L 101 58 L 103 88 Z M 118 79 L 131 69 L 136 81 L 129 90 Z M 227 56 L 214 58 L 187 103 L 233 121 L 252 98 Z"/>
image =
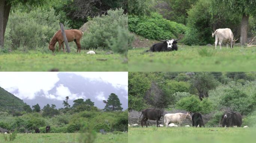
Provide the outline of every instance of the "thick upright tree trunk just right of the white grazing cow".
<path id="1" fill-rule="evenodd" d="M 247 42 L 247 29 L 248 29 L 248 21 L 249 15 L 243 14 L 243 18 L 241 21 L 241 36 L 240 36 L 240 44 L 244 46 Z"/>

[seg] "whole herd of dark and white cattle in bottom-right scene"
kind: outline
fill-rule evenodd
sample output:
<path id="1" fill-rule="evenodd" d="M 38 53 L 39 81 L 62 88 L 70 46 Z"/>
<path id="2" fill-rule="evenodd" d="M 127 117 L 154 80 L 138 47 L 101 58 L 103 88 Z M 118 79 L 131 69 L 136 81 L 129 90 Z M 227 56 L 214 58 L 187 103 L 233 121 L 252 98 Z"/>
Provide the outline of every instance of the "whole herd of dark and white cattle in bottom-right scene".
<path id="1" fill-rule="evenodd" d="M 156 108 L 147 108 L 141 111 L 142 119 L 140 121 L 141 127 L 143 127 L 143 123 L 147 127 L 147 120 L 155 120 L 156 127 L 161 127 L 163 125 L 159 124 L 159 120 L 161 117 L 164 117 L 164 124 L 165 127 L 173 127 L 174 123 L 181 125 L 185 119 L 192 120 L 192 126 L 194 127 L 202 127 L 204 126 L 204 121 L 202 119 L 202 115 L 198 112 L 194 113 L 191 117 L 190 113 L 187 112 L 186 114 L 183 113 L 175 113 L 175 114 L 165 114 L 163 109 L 156 109 Z M 141 117 L 140 115 L 140 117 Z M 138 118 L 138 122 L 139 119 Z M 170 123 L 172 125 L 170 125 Z M 233 111 L 225 111 L 222 115 L 222 127 L 241 127 L 242 125 L 242 115 L 239 112 Z M 129 126 L 129 125 L 128 125 Z"/>

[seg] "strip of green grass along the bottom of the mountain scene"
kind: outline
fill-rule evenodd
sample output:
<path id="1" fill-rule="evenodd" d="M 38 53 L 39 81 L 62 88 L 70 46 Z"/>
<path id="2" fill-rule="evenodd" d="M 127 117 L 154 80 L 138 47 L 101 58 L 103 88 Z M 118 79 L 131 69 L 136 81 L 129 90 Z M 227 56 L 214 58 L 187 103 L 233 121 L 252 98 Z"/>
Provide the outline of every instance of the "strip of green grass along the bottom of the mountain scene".
<path id="1" fill-rule="evenodd" d="M 17 134 L 12 143 L 79 143 L 79 137 L 80 133 Z M 127 140 L 127 133 L 98 133 L 95 143 L 127 143 Z M 3 134 L 0 134 L 0 143 L 10 142 L 4 141 Z"/>

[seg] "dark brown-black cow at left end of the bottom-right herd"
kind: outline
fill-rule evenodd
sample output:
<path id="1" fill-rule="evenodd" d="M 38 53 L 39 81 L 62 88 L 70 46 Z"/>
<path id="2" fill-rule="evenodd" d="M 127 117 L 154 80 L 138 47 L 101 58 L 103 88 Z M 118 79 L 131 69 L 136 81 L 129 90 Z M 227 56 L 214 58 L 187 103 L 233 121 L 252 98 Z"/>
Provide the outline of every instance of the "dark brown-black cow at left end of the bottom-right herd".
<path id="1" fill-rule="evenodd" d="M 159 120 L 162 116 L 164 116 L 164 110 L 163 109 L 156 109 L 156 108 L 147 108 L 147 109 L 143 109 L 141 111 L 141 115 L 143 114 L 143 117 L 140 121 L 141 123 L 141 127 L 143 127 L 143 122 L 146 124 L 147 127 L 147 120 L 156 120 L 156 127 L 160 127 L 159 126 Z M 141 117 L 140 115 L 140 117 Z M 138 118 L 139 120 L 140 118 Z"/>

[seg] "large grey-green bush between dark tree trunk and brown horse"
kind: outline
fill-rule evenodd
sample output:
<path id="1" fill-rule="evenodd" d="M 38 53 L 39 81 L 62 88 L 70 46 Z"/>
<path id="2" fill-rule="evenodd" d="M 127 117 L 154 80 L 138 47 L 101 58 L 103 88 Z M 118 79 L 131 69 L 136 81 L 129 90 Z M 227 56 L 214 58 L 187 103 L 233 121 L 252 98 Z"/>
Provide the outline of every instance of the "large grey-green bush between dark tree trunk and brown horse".
<path id="1" fill-rule="evenodd" d="M 31 50 L 37 47 L 48 47 L 55 32 L 60 29 L 60 16 L 55 16 L 54 9 L 35 9 L 29 13 L 19 10 L 9 16 L 6 44 L 12 50 Z"/>

